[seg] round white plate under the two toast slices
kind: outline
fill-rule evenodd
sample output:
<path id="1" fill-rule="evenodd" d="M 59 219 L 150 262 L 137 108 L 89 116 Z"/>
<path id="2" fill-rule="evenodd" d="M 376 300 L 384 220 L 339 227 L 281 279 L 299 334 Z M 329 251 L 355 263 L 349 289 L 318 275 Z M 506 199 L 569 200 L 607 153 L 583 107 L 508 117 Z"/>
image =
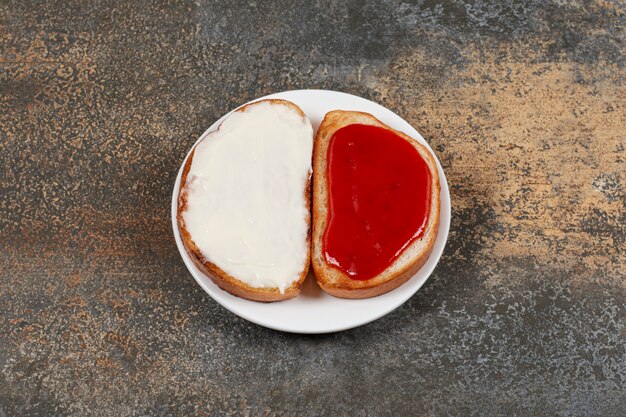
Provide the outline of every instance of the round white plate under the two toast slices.
<path id="1" fill-rule="evenodd" d="M 359 110 L 371 113 L 383 123 L 418 140 L 433 153 L 424 138 L 400 116 L 379 104 L 361 97 L 327 90 L 294 90 L 271 94 L 257 100 L 266 98 L 282 98 L 296 103 L 311 119 L 315 130 L 326 112 L 330 110 Z M 226 116 L 228 115 L 225 115 L 209 127 L 198 141 L 208 132 L 217 128 Z M 434 153 L 433 156 L 435 156 Z M 189 154 L 187 154 L 187 157 L 189 157 Z M 441 214 L 439 232 L 435 240 L 433 252 L 415 276 L 387 294 L 365 300 L 335 298 L 326 294 L 317 286 L 312 273 L 309 273 L 309 276 L 306 278 L 300 295 L 286 301 L 259 303 L 235 297 L 221 290 L 195 267 L 180 239 L 180 233 L 176 224 L 176 200 L 183 166 L 185 165 L 184 161 L 178 172 L 172 195 L 172 227 L 174 228 L 174 237 L 176 238 L 178 250 L 191 275 L 215 301 L 253 323 L 285 332 L 312 334 L 337 332 L 369 323 L 398 308 L 415 294 L 426 282 L 441 257 L 448 238 L 448 230 L 450 229 L 450 192 L 446 177 L 441 169 L 441 164 L 436 156 L 435 160 L 437 161 L 437 169 L 439 170 L 439 178 L 441 180 Z"/>

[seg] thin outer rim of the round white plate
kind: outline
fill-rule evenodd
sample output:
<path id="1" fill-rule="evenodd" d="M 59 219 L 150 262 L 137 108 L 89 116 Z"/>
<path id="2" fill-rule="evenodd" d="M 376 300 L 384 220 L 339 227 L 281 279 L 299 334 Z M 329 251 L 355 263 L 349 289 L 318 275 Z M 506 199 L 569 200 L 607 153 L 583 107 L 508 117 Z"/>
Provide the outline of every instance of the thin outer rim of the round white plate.
<path id="1" fill-rule="evenodd" d="M 364 100 L 369 102 L 370 104 L 373 104 L 376 107 L 380 107 L 382 109 L 384 109 L 387 112 L 390 112 L 391 115 L 401 119 L 404 123 L 406 123 L 408 126 L 411 127 L 411 129 L 417 133 L 418 136 L 418 142 L 420 142 L 422 145 L 426 146 L 426 148 L 428 149 L 428 151 L 432 154 L 432 156 L 435 159 L 435 164 L 437 166 L 437 170 L 439 173 L 439 182 L 440 182 L 440 196 L 443 196 L 447 199 L 447 204 L 446 207 L 444 207 L 443 204 L 440 205 L 440 210 L 443 211 L 444 208 L 447 208 L 446 213 L 440 212 L 440 218 L 444 218 L 445 221 L 445 227 L 440 221 L 439 224 L 439 230 L 437 232 L 437 236 L 436 236 L 436 240 L 435 242 L 438 240 L 438 238 L 442 237 L 443 240 L 443 245 L 441 246 L 441 249 L 439 250 L 438 253 L 431 253 L 430 257 L 435 257 L 434 258 L 434 262 L 432 263 L 432 265 L 430 266 L 430 270 L 426 271 L 426 275 L 425 277 L 421 280 L 421 282 L 418 283 L 418 285 L 415 287 L 414 291 L 408 291 L 407 294 L 405 294 L 403 297 L 401 297 L 398 300 L 395 300 L 395 302 L 390 303 L 388 306 L 386 306 L 386 308 L 381 309 L 379 312 L 377 312 L 375 315 L 371 316 L 371 317 L 367 317 L 366 319 L 360 320 L 360 321 L 356 321 L 356 322 L 352 322 L 349 324 L 337 324 L 335 326 L 331 325 L 328 326 L 328 328 L 325 328 L 324 330 L 316 330 L 316 329 L 296 329 L 293 327 L 285 327 L 285 326 L 281 326 L 281 325 L 276 325 L 273 324 L 271 322 L 267 322 L 267 321 L 263 321 L 258 319 L 257 317 L 254 317 L 250 314 L 248 314 L 248 312 L 242 312 L 242 311 L 234 311 L 233 308 L 231 308 L 228 303 L 223 300 L 219 293 L 217 293 L 216 291 L 223 291 L 222 289 L 220 289 L 219 287 L 217 287 L 217 290 L 209 287 L 208 285 L 206 285 L 206 283 L 200 279 L 199 277 L 196 276 L 195 271 L 192 269 L 192 261 L 189 258 L 189 255 L 187 254 L 187 251 L 184 248 L 184 245 L 182 243 L 182 239 L 180 237 L 180 231 L 178 230 L 178 222 L 177 222 L 177 214 L 178 214 L 178 192 L 180 189 L 180 181 L 182 178 L 182 171 L 183 168 L 185 166 L 185 163 L 187 162 L 187 158 L 189 158 L 189 155 L 191 153 L 191 151 L 193 150 L 193 148 L 198 144 L 198 142 L 200 142 L 202 139 L 205 138 L 205 136 L 207 134 L 209 134 L 215 126 L 218 126 L 226 117 L 228 117 L 231 113 L 233 113 L 234 111 L 236 111 L 237 109 L 250 104 L 250 103 L 254 103 L 256 101 L 259 100 L 264 100 L 264 99 L 268 99 L 268 98 L 282 98 L 281 96 L 283 95 L 289 95 L 289 94 L 309 94 L 309 93 L 321 93 L 321 94 L 327 94 L 327 93 L 331 93 L 331 94 L 338 94 L 338 95 L 342 95 L 345 96 L 345 98 L 347 99 L 357 99 L 357 100 Z M 379 117 L 378 115 L 374 115 L 377 118 Z M 409 136 L 413 136 L 413 135 L 409 135 Z M 450 191 L 449 191 L 449 187 L 448 187 L 448 181 L 447 178 L 445 176 L 445 173 L 443 171 L 443 168 L 441 166 L 441 163 L 439 162 L 439 158 L 437 158 L 437 155 L 435 154 L 435 152 L 432 150 L 432 148 L 430 147 L 430 144 L 426 141 L 426 139 L 424 139 L 424 137 L 417 131 L 417 129 L 415 129 L 413 127 L 413 125 L 411 125 L 408 121 L 406 121 L 403 117 L 401 117 L 400 115 L 398 115 L 397 113 L 395 113 L 393 110 L 388 109 L 387 107 L 383 106 L 382 104 L 376 103 L 372 100 L 366 99 L 364 97 L 360 97 L 360 96 L 356 96 L 354 94 L 350 94 L 350 93 L 345 93 L 342 91 L 336 91 L 336 90 L 324 90 L 324 89 L 295 89 L 295 90 L 285 90 L 285 91 L 280 91 L 280 92 L 276 92 L 276 93 L 272 93 L 272 94 L 268 94 L 262 97 L 258 97 L 255 98 L 253 100 L 250 100 L 246 103 L 243 103 L 237 107 L 235 107 L 234 109 L 230 110 L 228 113 L 224 114 L 223 116 L 221 116 L 219 119 L 217 119 L 214 123 L 211 124 L 211 126 L 209 126 L 199 137 L 198 139 L 193 143 L 193 145 L 189 148 L 189 150 L 187 151 L 185 158 L 183 159 L 183 161 L 181 162 L 180 168 L 178 170 L 178 173 L 176 175 L 176 179 L 174 181 L 174 187 L 172 190 L 172 203 L 171 203 L 171 221 L 172 221 L 172 231 L 174 234 L 174 240 L 176 241 L 176 246 L 178 248 L 178 252 L 181 256 L 181 258 L 183 259 L 183 263 L 185 264 L 185 267 L 187 268 L 187 271 L 191 274 L 191 276 L 194 278 L 194 280 L 200 285 L 200 287 L 204 290 L 204 292 L 206 292 L 214 301 L 216 301 L 219 305 L 221 305 L 223 308 L 225 308 L 226 310 L 230 311 L 231 313 L 249 321 L 252 322 L 256 325 L 259 326 L 263 326 L 269 329 L 273 329 L 273 330 L 278 330 L 278 331 L 282 331 L 282 332 L 286 332 L 286 333 L 294 333 L 294 334 L 328 334 L 328 333 L 336 333 L 336 332 L 341 332 L 344 330 L 349 330 L 349 329 L 353 329 L 356 327 L 360 327 L 363 326 L 365 324 L 371 323 L 375 320 L 378 320 L 381 317 L 386 316 L 387 314 L 391 313 L 392 311 L 394 311 L 395 309 L 399 308 L 400 306 L 402 306 L 409 298 L 413 297 L 419 290 L 420 288 L 426 283 L 426 281 L 428 281 L 428 279 L 430 278 L 430 276 L 432 275 L 432 273 L 434 272 L 435 268 L 437 267 L 437 265 L 439 264 L 439 261 L 441 259 L 441 256 L 445 250 L 445 247 L 447 245 L 448 242 L 448 236 L 449 236 L 449 232 L 450 232 L 450 224 L 451 224 L 451 220 L 452 220 L 452 201 L 450 198 Z M 427 261 L 428 262 L 428 261 Z M 423 267 L 422 267 L 423 268 Z M 420 270 L 421 271 L 421 268 Z M 419 273 L 418 271 L 418 273 Z M 201 273 L 201 272 L 200 272 Z M 417 273 L 416 273 L 417 275 Z M 415 275 L 413 277 L 411 277 L 409 280 L 413 279 L 415 277 Z M 206 277 L 207 280 L 210 281 L 210 278 Z M 215 284 L 214 284 L 215 285 Z M 317 284 L 315 284 L 317 285 Z M 245 300 L 248 302 L 255 302 L 255 301 L 250 301 L 250 300 Z M 341 301 L 345 301 L 345 302 L 358 302 L 360 300 L 349 300 L 349 299 L 342 299 Z M 255 302 L 256 303 L 256 302 Z M 340 322 L 343 323 L 343 322 Z"/>

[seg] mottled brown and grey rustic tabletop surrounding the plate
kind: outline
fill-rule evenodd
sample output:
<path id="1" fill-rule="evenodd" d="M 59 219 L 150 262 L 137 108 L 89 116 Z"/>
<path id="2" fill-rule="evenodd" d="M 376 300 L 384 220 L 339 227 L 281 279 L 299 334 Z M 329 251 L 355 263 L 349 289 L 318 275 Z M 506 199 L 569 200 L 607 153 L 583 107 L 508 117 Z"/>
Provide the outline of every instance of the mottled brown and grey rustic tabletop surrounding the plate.
<path id="1" fill-rule="evenodd" d="M 619 0 L 0 2 L 0 416 L 624 416 Z M 174 178 L 288 89 L 389 107 L 446 171 L 426 285 L 323 336 L 209 298 Z"/>

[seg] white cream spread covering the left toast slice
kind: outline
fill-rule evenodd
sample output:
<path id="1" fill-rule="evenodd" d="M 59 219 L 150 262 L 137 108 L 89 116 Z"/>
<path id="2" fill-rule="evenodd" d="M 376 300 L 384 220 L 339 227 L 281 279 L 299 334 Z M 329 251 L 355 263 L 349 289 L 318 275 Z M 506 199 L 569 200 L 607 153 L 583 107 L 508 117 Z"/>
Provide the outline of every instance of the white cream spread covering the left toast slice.
<path id="1" fill-rule="evenodd" d="M 309 120 L 269 102 L 232 113 L 198 143 L 182 217 L 207 260 L 255 288 L 282 293 L 299 278 L 312 151 Z"/>

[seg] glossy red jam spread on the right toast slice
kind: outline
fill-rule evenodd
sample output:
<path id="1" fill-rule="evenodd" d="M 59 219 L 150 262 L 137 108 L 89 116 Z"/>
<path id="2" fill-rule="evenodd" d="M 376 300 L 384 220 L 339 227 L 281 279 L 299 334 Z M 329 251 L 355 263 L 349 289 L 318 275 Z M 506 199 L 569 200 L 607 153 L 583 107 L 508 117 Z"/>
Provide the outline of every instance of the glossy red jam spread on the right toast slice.
<path id="1" fill-rule="evenodd" d="M 348 125 L 328 145 L 326 262 L 354 280 L 384 271 L 424 235 L 431 175 L 401 136 L 369 125 Z"/>

